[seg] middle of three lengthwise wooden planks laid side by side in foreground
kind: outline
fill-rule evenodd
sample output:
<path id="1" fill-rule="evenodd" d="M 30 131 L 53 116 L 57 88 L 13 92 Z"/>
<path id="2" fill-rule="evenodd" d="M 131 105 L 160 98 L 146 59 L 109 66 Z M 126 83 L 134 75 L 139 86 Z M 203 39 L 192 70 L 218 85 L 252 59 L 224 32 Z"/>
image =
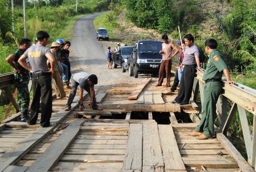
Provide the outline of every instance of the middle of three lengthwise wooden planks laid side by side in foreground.
<path id="1" fill-rule="evenodd" d="M 161 167 L 162 150 L 159 142 L 157 123 L 143 123 L 143 167 Z"/>

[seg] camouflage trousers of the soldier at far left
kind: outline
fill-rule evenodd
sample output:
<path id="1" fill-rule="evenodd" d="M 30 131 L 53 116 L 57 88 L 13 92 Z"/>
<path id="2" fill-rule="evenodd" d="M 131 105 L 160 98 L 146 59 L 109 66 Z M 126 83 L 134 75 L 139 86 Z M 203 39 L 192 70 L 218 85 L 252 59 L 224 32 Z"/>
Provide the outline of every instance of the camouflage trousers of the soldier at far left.
<path id="1" fill-rule="evenodd" d="M 21 114 L 27 115 L 27 112 L 29 110 L 29 85 L 28 81 L 21 81 L 18 79 L 14 79 L 14 85 L 17 87 L 18 90 L 18 105 L 19 105 L 19 111 Z"/>

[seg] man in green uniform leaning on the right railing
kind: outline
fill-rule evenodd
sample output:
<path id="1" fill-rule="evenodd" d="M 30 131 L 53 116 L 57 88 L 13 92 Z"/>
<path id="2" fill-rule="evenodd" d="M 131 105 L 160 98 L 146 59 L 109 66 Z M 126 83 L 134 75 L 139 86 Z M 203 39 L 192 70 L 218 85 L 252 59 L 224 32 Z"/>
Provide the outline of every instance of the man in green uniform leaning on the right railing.
<path id="1" fill-rule="evenodd" d="M 189 135 L 195 136 L 197 139 L 213 137 L 216 103 L 219 94 L 222 92 L 222 74 L 225 74 L 228 84 L 234 84 L 234 81 L 230 80 L 227 65 L 223 61 L 221 53 L 217 50 L 217 41 L 215 39 L 207 39 L 205 41 L 205 51 L 209 56 L 209 60 L 203 75 L 203 80 L 206 84 L 203 90 L 202 118 L 195 130 L 189 133 Z"/>

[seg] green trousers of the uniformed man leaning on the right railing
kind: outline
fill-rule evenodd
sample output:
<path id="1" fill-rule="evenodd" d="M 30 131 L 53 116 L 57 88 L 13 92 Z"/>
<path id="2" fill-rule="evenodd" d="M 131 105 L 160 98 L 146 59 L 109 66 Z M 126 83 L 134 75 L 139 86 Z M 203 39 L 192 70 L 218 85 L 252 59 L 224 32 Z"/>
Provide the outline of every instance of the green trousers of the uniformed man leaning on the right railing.
<path id="1" fill-rule="evenodd" d="M 216 103 L 222 92 L 221 82 L 207 82 L 203 89 L 202 118 L 195 131 L 203 132 L 206 137 L 213 136 Z"/>

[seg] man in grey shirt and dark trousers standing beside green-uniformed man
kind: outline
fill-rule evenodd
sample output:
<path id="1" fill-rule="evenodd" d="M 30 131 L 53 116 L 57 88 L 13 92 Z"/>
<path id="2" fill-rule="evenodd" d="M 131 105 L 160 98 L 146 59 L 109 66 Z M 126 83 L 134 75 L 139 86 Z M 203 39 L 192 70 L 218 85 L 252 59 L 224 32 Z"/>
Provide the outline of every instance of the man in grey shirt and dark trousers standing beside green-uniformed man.
<path id="1" fill-rule="evenodd" d="M 174 101 L 171 101 L 171 103 L 180 105 L 189 104 L 195 77 L 195 67 L 201 69 L 199 50 L 198 47 L 194 44 L 193 35 L 186 34 L 184 40 L 186 43 L 186 49 L 183 62 L 179 66 L 179 69 L 182 69 L 182 66 L 184 66 L 183 73 L 181 75 L 181 82 L 179 82 L 179 93 Z"/>

